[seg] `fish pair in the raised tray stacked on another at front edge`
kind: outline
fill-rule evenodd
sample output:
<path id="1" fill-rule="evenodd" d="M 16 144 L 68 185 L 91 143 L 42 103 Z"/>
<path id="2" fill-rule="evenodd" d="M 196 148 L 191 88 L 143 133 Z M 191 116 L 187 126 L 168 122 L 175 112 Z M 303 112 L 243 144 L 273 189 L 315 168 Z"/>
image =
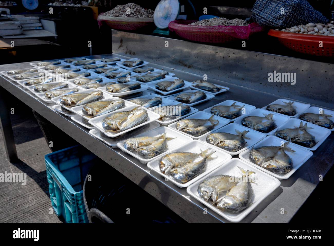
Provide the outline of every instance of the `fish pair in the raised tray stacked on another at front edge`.
<path id="1" fill-rule="evenodd" d="M 112 113 L 102 120 L 102 127 L 106 130 L 105 132 L 120 132 L 140 125 L 147 118 L 147 111 L 138 106 L 129 111 Z"/>

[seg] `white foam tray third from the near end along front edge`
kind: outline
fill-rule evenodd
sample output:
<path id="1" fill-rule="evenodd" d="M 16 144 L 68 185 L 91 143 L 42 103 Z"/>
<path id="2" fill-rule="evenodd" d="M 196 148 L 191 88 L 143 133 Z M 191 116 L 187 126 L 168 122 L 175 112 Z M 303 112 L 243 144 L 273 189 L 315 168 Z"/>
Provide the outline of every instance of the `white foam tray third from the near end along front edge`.
<path id="1" fill-rule="evenodd" d="M 155 137 L 155 136 L 159 136 L 163 133 L 166 133 L 166 137 L 173 138 L 173 139 L 167 140 L 167 147 L 166 147 L 164 152 L 162 152 L 161 154 L 159 154 L 159 155 L 157 155 L 153 158 L 150 158 L 150 159 L 143 158 L 141 155 L 139 155 L 134 150 L 133 151 L 127 150 L 123 145 L 125 140 L 120 141 L 117 144 L 117 147 L 119 147 L 122 151 L 132 155 L 133 157 L 138 159 L 141 163 L 147 163 L 147 162 L 150 162 L 150 161 L 155 160 L 157 158 L 160 158 L 161 156 L 165 155 L 166 152 L 172 151 L 173 149 L 176 149 L 177 147 L 179 147 L 181 145 L 184 145 L 187 142 L 192 140 L 192 138 L 187 137 L 187 136 L 185 136 L 181 133 L 178 133 L 178 132 L 176 132 L 176 131 L 174 131 L 174 130 L 166 127 L 166 126 L 162 126 L 162 127 L 156 128 L 154 130 L 150 130 L 150 131 L 141 133 L 141 134 L 137 135 L 136 137 L 142 137 L 142 136 Z"/>

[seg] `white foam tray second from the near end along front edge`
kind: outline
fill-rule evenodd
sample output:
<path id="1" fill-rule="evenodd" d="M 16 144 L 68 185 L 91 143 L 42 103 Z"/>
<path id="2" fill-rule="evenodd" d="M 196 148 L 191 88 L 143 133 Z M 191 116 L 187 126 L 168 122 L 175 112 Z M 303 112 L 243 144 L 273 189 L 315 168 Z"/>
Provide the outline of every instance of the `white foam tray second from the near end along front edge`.
<path id="1" fill-rule="evenodd" d="M 200 153 L 201 150 L 204 151 L 208 148 L 212 148 L 212 147 L 209 144 L 206 144 L 206 143 L 203 143 L 203 142 L 200 142 L 200 141 L 197 141 L 197 140 L 191 140 L 187 144 L 184 144 L 183 146 L 175 148 L 175 149 L 173 149 L 173 151 L 169 151 L 168 153 L 172 153 L 172 152 Z M 166 175 L 166 174 L 162 173 L 160 171 L 160 168 L 159 168 L 160 158 L 154 159 L 154 160 L 148 162 L 147 167 L 150 168 L 151 170 L 155 171 L 159 175 L 163 176 L 165 178 L 165 180 L 168 180 L 168 181 L 172 182 L 173 184 L 175 184 L 176 186 L 178 186 L 180 188 L 185 188 L 185 187 L 188 187 L 190 184 L 196 182 L 197 180 L 201 179 L 207 173 L 213 171 L 215 168 L 221 166 L 223 163 L 225 163 L 226 161 L 228 161 L 229 159 L 232 158 L 231 155 L 229 155 L 229 154 L 227 154 L 223 151 L 220 151 L 218 149 L 213 149 L 213 150 L 215 150 L 216 152 L 211 155 L 212 158 L 207 158 L 206 165 L 203 168 L 203 170 L 199 174 L 197 174 L 194 178 L 190 179 L 186 183 L 179 183 L 179 182 L 175 181 L 169 175 Z M 168 153 L 165 153 L 165 155 L 168 154 Z M 165 155 L 163 155 L 163 156 L 165 156 Z"/>

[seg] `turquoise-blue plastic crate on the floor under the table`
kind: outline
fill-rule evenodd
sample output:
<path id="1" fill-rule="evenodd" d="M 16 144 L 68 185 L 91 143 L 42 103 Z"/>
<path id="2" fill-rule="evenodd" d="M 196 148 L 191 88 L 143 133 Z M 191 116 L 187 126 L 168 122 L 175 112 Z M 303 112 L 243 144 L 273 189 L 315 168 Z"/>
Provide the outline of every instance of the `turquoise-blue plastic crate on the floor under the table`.
<path id="1" fill-rule="evenodd" d="M 50 200 L 66 223 L 89 223 L 83 203 L 83 182 L 98 157 L 76 145 L 45 155 Z"/>

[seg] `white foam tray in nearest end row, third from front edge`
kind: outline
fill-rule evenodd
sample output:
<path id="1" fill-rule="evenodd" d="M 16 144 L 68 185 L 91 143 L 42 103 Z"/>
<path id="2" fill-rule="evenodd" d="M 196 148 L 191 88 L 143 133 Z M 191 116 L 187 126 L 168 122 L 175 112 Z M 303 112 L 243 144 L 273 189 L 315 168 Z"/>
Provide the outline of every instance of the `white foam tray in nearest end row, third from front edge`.
<path id="1" fill-rule="evenodd" d="M 307 124 L 307 127 L 312 127 L 313 129 L 308 129 L 307 132 L 312 134 L 315 137 L 315 141 L 317 142 L 316 145 L 314 145 L 312 148 L 308 148 L 308 147 L 304 147 L 302 145 L 299 145 L 296 143 L 296 145 L 305 148 L 305 149 L 309 149 L 309 150 L 316 150 L 325 140 L 326 138 L 331 134 L 331 131 L 325 127 L 321 127 L 321 126 L 317 126 L 315 124 L 309 123 L 307 121 L 303 121 L 303 120 L 299 120 L 296 118 L 292 118 L 290 120 L 288 120 L 287 122 L 285 122 L 285 124 L 281 125 L 278 130 L 283 130 L 286 128 L 295 128 L 295 127 L 299 127 L 300 122 L 303 122 L 303 125 L 305 125 L 305 123 Z M 275 131 L 276 132 L 276 131 Z M 273 132 L 271 135 L 275 136 L 275 132 Z M 284 139 L 282 139 L 283 141 L 285 141 Z"/>

